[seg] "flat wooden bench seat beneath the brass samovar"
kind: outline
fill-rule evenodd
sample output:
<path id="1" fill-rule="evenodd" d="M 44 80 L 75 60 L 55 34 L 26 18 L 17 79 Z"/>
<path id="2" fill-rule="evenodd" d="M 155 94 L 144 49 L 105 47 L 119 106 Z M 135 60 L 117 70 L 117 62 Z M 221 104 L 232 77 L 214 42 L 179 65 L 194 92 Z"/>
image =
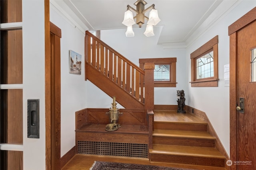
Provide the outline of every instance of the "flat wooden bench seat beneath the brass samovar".
<path id="1" fill-rule="evenodd" d="M 148 134 L 147 127 L 144 125 L 120 125 L 116 131 L 106 131 L 106 124 L 86 124 L 76 130 L 76 132 L 96 132 L 96 133 L 143 133 Z"/>

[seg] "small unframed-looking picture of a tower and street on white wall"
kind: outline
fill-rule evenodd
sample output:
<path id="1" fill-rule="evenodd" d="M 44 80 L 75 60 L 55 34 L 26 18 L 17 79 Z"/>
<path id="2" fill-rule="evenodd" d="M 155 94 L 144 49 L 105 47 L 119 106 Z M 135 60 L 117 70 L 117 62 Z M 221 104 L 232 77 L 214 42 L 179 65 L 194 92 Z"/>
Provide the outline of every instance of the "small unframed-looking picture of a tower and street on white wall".
<path id="1" fill-rule="evenodd" d="M 69 51 L 69 73 L 81 75 L 82 55 Z"/>

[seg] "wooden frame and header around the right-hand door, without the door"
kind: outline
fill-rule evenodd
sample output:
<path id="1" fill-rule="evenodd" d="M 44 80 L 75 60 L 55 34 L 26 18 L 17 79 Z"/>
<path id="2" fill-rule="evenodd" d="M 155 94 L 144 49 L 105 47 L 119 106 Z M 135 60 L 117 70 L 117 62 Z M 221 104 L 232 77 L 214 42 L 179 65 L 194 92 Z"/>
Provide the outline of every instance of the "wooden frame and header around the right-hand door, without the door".
<path id="1" fill-rule="evenodd" d="M 256 21 L 256 7 L 232 23 L 228 27 L 230 36 L 230 160 L 238 160 L 237 144 L 237 38 L 238 31 L 250 23 Z M 230 166 L 231 170 L 236 170 L 237 166 Z"/>

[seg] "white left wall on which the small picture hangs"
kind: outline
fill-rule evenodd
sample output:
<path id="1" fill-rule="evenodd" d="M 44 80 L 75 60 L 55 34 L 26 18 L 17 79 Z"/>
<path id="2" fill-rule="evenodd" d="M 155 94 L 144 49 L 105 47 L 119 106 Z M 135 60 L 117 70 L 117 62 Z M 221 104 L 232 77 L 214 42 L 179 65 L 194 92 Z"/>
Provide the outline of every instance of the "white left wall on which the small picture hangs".
<path id="1" fill-rule="evenodd" d="M 86 108 L 86 81 L 84 80 L 84 34 L 74 23 L 66 20 L 50 4 L 50 21 L 61 29 L 61 141 L 60 152 L 63 156 L 76 145 L 75 111 Z M 69 73 L 69 50 L 82 55 L 81 75 Z"/>

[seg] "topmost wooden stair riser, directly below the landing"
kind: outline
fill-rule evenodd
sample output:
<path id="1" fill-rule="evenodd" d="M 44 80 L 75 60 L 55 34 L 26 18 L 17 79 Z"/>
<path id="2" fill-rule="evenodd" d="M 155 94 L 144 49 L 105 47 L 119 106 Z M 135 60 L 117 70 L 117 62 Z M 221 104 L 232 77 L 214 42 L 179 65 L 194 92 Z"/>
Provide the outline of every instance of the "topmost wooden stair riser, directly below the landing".
<path id="1" fill-rule="evenodd" d="M 207 124 L 154 122 L 154 129 L 177 131 L 207 131 Z"/>

